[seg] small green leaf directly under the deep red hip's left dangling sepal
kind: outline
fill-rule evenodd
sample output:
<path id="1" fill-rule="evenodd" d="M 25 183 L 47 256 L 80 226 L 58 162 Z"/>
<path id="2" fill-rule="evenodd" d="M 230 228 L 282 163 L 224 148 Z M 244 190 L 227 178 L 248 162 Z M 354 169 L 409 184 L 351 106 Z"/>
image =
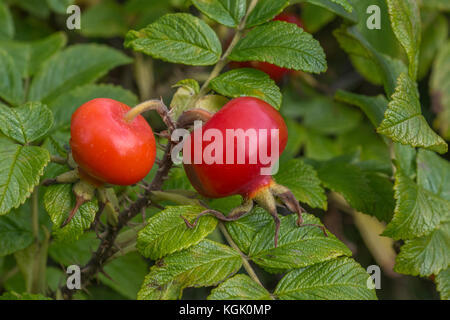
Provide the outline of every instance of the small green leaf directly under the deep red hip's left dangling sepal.
<path id="1" fill-rule="evenodd" d="M 205 208 L 196 206 L 169 206 L 158 212 L 139 231 L 139 252 L 147 258 L 157 260 L 199 243 L 216 228 L 217 219 L 210 215 L 201 217 L 195 228 L 189 229 L 181 216 L 194 222 L 204 210 Z"/>

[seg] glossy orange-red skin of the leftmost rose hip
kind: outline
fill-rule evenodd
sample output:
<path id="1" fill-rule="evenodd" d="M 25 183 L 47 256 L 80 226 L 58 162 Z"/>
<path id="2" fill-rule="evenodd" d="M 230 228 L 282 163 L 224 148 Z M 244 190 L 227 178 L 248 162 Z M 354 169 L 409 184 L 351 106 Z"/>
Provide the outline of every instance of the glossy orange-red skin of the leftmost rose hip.
<path id="1" fill-rule="evenodd" d="M 83 174 L 116 185 L 142 180 L 155 162 L 153 131 L 142 116 L 127 122 L 130 107 L 112 99 L 86 102 L 72 115 L 70 146 Z"/>

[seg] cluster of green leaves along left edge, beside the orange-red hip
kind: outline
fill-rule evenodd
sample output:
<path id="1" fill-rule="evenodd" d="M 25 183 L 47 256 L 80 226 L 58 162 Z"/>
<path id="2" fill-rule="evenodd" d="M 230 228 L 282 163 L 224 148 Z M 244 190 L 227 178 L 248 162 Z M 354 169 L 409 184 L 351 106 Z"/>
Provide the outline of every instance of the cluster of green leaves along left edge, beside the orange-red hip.
<path id="1" fill-rule="evenodd" d="M 8 270 L 9 257 L 14 254 L 25 281 L 12 278 L 5 288 L 18 292 L 45 292 L 46 279 L 53 281 L 50 287 L 56 290 L 63 273 L 46 268 L 48 252 L 51 255 L 56 243 L 50 242 L 50 230 L 57 239 L 74 241 L 90 227 L 97 211 L 96 200 L 86 203 L 68 228 L 59 229 L 75 202 L 71 187 L 38 187 L 42 179 L 68 169 L 50 160 L 67 156 L 72 112 L 98 97 L 130 105 L 138 102 L 132 92 L 121 87 L 95 84 L 111 69 L 132 62 L 120 51 L 97 44 L 66 47 L 67 37 L 62 32 L 41 40 L 15 40 L 20 30 L 10 8 L 17 5 L 41 18 L 50 14 L 49 8 L 58 13 L 67 8 L 59 1 L 47 3 L 48 8 L 35 1 L 12 1 L 9 7 L 0 1 L 0 270 Z M 47 216 L 38 214 L 45 212 L 44 208 Z M 56 257 L 55 261 L 61 260 Z M 43 270 L 37 271 L 42 264 Z M 37 281 L 33 272 L 38 272 L 41 280 Z"/>

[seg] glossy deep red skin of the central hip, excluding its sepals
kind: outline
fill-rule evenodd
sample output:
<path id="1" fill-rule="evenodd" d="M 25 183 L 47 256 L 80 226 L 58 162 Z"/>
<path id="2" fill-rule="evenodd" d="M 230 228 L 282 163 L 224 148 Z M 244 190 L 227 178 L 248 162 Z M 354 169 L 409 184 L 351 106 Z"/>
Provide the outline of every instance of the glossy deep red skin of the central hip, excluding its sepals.
<path id="1" fill-rule="evenodd" d="M 226 155 L 225 135 L 226 129 L 243 129 L 244 131 L 253 128 L 258 129 L 279 129 L 279 155 L 283 152 L 287 143 L 287 127 L 278 113 L 268 103 L 252 97 L 236 98 L 228 102 L 214 116 L 206 122 L 203 127 L 203 133 L 207 129 L 218 129 L 223 138 L 223 154 Z M 191 141 L 193 141 L 191 133 Z M 270 135 L 270 134 L 269 134 Z M 211 142 L 203 142 L 202 149 Z M 191 164 L 186 164 L 184 168 L 186 174 L 194 188 L 202 195 L 209 198 L 221 198 L 230 195 L 240 194 L 244 197 L 252 195 L 264 186 L 272 183 L 270 175 L 261 175 L 261 167 L 267 167 L 260 163 L 259 158 L 256 164 L 249 164 L 249 143 L 246 143 L 245 163 L 237 164 L 194 164 L 192 158 Z M 257 150 L 255 144 L 253 151 Z M 270 154 L 270 136 L 268 138 L 268 148 Z M 234 145 L 234 155 L 238 151 L 238 145 Z M 191 144 L 191 154 L 194 154 L 193 143 Z M 186 159 L 185 159 L 186 160 Z M 224 161 L 225 162 L 225 161 Z"/>

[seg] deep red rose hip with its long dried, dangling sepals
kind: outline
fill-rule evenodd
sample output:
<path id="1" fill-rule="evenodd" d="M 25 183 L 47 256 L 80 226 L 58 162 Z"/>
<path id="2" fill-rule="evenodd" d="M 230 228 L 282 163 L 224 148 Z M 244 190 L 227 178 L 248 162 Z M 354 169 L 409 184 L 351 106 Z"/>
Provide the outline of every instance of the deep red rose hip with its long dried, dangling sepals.
<path id="1" fill-rule="evenodd" d="M 202 127 L 195 128 L 183 149 L 184 168 L 192 185 L 206 197 L 241 195 L 243 202 L 227 216 L 205 210 L 194 223 L 185 219 L 188 227 L 195 226 L 198 218 L 208 213 L 223 221 L 237 220 L 256 202 L 275 221 L 276 247 L 280 219 L 275 198 L 297 213 L 297 224 L 304 226 L 303 210 L 292 192 L 277 184 L 267 174 L 270 170 L 262 171 L 278 160 L 286 147 L 287 136 L 286 124 L 278 111 L 266 102 L 250 97 L 231 100 Z M 314 226 L 320 227 L 326 235 L 323 226 Z"/>

